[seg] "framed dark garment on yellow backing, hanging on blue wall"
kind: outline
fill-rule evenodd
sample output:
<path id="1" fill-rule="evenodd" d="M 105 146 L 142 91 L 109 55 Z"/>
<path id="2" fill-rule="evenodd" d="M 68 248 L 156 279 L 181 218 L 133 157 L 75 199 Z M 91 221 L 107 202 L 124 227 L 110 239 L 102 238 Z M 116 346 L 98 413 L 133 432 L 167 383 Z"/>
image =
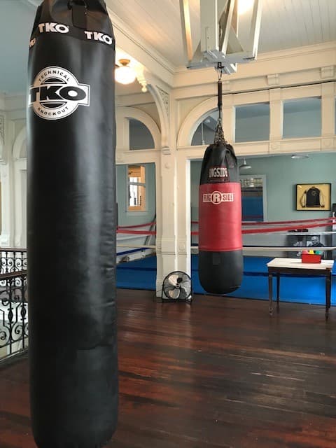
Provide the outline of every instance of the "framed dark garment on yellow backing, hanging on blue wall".
<path id="1" fill-rule="evenodd" d="M 297 210 L 330 210 L 331 183 L 297 183 Z"/>

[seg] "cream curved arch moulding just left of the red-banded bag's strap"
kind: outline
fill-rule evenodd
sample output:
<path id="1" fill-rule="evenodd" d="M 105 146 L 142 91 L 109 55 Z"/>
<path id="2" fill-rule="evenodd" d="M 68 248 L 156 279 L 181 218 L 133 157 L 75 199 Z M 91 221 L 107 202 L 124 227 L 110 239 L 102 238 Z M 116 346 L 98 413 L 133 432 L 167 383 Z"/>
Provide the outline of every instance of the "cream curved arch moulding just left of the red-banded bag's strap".
<path id="1" fill-rule="evenodd" d="M 202 120 L 217 108 L 217 98 L 212 97 L 198 104 L 183 121 L 177 137 L 177 147 L 191 146 L 193 135 Z"/>

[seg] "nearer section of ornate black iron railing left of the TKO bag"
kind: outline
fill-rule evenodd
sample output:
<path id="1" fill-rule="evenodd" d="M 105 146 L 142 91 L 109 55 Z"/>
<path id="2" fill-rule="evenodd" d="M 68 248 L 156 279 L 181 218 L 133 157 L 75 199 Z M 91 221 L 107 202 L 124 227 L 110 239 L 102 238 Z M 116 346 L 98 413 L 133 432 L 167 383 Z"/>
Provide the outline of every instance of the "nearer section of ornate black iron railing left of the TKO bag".
<path id="1" fill-rule="evenodd" d="M 27 271 L 0 274 L 0 363 L 28 348 Z"/>

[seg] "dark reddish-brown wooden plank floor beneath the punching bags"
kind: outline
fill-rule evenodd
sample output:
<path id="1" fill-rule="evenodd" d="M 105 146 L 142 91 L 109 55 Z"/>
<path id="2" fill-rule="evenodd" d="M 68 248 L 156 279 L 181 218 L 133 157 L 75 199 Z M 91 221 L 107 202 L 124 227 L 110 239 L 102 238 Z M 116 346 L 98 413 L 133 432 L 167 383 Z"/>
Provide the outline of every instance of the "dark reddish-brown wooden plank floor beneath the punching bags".
<path id="1" fill-rule="evenodd" d="M 111 448 L 335 448 L 336 309 L 118 290 Z M 0 370 L 0 447 L 34 448 L 27 360 Z"/>

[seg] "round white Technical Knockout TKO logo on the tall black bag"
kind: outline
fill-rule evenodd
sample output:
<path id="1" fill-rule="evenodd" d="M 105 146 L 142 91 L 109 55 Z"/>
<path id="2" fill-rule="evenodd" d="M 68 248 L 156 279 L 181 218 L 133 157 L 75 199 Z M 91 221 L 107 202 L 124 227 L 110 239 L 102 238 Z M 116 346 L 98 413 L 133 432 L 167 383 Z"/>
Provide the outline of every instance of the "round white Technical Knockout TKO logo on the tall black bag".
<path id="1" fill-rule="evenodd" d="M 71 115 L 78 106 L 90 106 L 90 86 L 78 83 L 70 71 L 50 66 L 34 79 L 28 105 L 41 118 L 59 120 Z"/>

